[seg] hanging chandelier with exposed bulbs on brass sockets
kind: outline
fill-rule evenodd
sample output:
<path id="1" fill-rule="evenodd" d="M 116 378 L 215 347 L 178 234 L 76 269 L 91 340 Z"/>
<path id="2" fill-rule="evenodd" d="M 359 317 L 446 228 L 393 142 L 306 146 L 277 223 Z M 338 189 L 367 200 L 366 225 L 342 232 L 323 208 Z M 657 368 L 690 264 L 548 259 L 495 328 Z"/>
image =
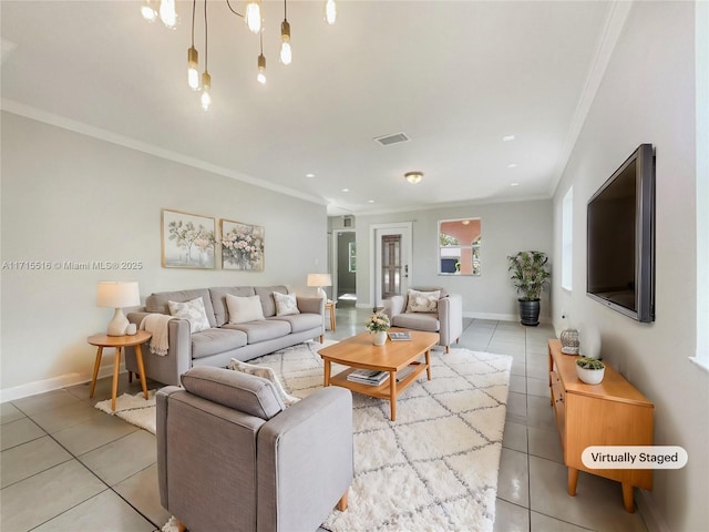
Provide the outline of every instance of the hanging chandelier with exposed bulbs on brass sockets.
<path id="1" fill-rule="evenodd" d="M 199 52 L 195 48 L 195 12 L 197 0 L 192 1 L 192 42 L 187 49 L 187 85 L 193 91 L 202 92 L 202 109 L 207 111 L 212 105 L 212 75 L 207 70 L 208 58 L 208 33 L 207 33 L 207 3 L 204 1 L 204 72 L 199 75 Z M 266 57 L 264 55 L 264 18 L 261 16 L 261 1 L 247 0 L 244 13 L 237 12 L 229 0 L 225 0 L 229 11 L 244 19 L 246 27 L 259 37 L 260 54 L 257 58 L 256 79 L 259 83 L 266 83 Z M 175 0 L 144 0 L 141 7 L 143 18 L 148 22 L 160 19 L 165 27 L 175 29 L 179 17 L 175 6 Z M 337 4 L 335 0 L 326 0 L 323 18 L 328 24 L 333 24 L 337 18 Z M 280 23 L 280 62 L 285 65 L 292 61 L 290 49 L 290 23 L 287 17 L 287 4 L 284 0 L 284 21 Z"/>

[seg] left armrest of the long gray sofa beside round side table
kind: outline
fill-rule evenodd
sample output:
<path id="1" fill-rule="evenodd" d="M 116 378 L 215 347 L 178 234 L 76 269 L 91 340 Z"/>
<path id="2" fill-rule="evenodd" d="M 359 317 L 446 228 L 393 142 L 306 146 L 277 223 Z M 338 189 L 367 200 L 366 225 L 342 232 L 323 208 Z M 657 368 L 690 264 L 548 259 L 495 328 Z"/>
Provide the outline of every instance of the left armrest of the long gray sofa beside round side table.
<path id="1" fill-rule="evenodd" d="M 130 313 L 127 319 L 140 327 L 141 321 L 150 313 Z M 167 341 L 169 348 L 164 357 L 152 354 L 150 342 L 143 344 L 143 364 L 145 377 L 164 385 L 179 386 L 179 376 L 192 368 L 192 335 L 189 321 L 171 319 L 167 324 Z M 138 372 L 135 348 L 125 348 L 125 369 Z"/>

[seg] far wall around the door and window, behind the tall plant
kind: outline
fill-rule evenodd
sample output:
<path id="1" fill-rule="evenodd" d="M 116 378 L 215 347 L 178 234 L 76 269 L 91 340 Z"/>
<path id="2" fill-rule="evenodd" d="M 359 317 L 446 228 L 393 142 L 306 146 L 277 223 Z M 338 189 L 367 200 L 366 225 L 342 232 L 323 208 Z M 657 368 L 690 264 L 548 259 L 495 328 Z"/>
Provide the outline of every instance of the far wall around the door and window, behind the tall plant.
<path id="1" fill-rule="evenodd" d="M 438 223 L 441 219 L 482 218 L 480 276 L 438 274 Z M 357 300 L 371 307 L 373 287 L 370 264 L 370 226 L 395 222 L 413 224 L 412 286 L 442 286 L 463 296 L 466 317 L 518 319 L 517 294 L 507 273 L 507 255 L 536 249 L 552 255 L 553 209 L 549 200 L 471 204 L 409 213 L 357 217 Z M 551 259 L 549 259 L 551 263 Z M 548 293 L 542 297 L 542 319 L 551 319 Z"/>

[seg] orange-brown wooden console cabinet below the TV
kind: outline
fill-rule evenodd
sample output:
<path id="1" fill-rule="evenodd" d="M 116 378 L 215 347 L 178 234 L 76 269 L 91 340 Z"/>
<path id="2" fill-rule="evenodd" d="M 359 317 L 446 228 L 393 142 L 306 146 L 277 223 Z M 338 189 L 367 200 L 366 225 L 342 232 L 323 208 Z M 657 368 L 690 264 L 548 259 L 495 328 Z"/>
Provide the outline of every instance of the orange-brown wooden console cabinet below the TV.
<path id="1" fill-rule="evenodd" d="M 576 375 L 576 356 L 548 341 L 549 390 L 556 427 L 568 468 L 568 494 L 576 494 L 578 471 L 616 480 L 623 505 L 634 511 L 633 488 L 653 489 L 650 469 L 588 469 L 580 456 L 589 446 L 651 446 L 654 405 L 606 364 L 603 382 L 586 385 Z"/>

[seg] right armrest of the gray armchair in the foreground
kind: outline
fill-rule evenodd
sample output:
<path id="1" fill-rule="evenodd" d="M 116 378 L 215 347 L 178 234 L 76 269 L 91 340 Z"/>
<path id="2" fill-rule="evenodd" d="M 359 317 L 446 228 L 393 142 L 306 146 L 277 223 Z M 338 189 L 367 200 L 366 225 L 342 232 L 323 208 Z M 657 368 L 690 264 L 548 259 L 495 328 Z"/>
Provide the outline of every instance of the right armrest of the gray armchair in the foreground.
<path id="1" fill-rule="evenodd" d="M 317 530 L 353 477 L 352 395 L 322 388 L 258 432 L 257 530 Z"/>

